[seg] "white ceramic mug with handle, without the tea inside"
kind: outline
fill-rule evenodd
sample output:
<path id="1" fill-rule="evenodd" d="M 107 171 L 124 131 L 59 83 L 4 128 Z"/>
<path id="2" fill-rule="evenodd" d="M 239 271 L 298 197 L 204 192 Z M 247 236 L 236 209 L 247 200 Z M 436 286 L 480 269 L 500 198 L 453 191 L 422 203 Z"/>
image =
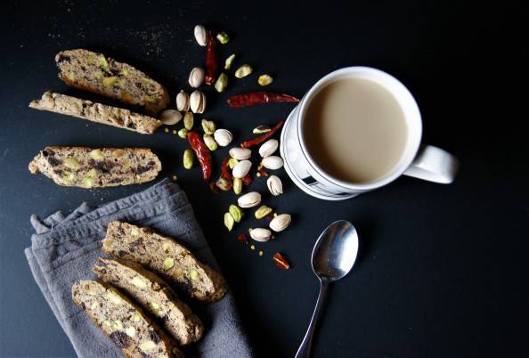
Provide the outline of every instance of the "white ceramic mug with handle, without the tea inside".
<path id="1" fill-rule="evenodd" d="M 343 78 L 370 79 L 384 86 L 394 94 L 399 102 L 408 128 L 408 141 L 403 156 L 383 178 L 370 183 L 346 183 L 325 173 L 311 158 L 306 148 L 303 135 L 303 122 L 306 110 L 325 85 Z M 338 69 L 321 78 L 305 94 L 297 107 L 292 110 L 281 132 L 281 157 L 285 161 L 285 170 L 297 186 L 313 197 L 327 200 L 342 200 L 377 189 L 393 182 L 400 175 L 414 176 L 435 183 L 452 183 L 457 169 L 458 160 L 450 153 L 431 146 L 421 145 L 422 120 L 419 106 L 410 91 L 395 77 L 379 69 L 369 67 L 348 67 Z"/>

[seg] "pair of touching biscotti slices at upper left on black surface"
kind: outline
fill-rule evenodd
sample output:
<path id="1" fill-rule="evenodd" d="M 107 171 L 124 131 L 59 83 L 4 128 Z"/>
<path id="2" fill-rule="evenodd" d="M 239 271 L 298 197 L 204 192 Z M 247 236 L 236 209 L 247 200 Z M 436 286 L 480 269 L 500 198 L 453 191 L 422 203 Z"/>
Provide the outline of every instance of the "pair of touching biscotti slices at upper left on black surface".
<path id="1" fill-rule="evenodd" d="M 156 115 L 169 102 L 163 85 L 139 69 L 102 53 L 84 49 L 62 51 L 55 56 L 59 78 L 73 87 L 100 94 Z M 46 92 L 30 108 L 87 119 L 109 126 L 152 134 L 162 122 L 157 118 L 64 94 Z"/>

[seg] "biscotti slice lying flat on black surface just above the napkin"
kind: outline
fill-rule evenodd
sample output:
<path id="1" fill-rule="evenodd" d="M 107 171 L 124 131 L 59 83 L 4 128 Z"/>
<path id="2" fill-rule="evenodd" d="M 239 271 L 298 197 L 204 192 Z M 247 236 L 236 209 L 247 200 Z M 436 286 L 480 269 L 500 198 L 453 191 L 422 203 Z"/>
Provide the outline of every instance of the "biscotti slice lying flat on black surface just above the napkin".
<path id="1" fill-rule="evenodd" d="M 45 147 L 29 163 L 33 174 L 87 189 L 149 182 L 160 170 L 156 154 L 140 148 Z"/>

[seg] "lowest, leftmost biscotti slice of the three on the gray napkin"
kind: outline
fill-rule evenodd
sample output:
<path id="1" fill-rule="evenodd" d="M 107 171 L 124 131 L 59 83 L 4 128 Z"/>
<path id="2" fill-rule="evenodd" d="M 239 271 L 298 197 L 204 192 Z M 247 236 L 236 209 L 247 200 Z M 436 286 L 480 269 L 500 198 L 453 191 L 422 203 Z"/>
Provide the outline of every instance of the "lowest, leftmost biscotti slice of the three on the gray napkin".
<path id="1" fill-rule="evenodd" d="M 183 357 L 164 330 L 109 284 L 79 281 L 71 296 L 126 357 Z"/>

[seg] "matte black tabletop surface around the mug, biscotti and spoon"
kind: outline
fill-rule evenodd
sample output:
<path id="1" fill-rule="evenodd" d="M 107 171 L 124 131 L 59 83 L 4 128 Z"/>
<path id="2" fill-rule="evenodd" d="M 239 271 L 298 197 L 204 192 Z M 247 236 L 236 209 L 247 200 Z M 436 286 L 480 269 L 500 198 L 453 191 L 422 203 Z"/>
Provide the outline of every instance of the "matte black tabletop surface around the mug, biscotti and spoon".
<path id="1" fill-rule="evenodd" d="M 442 2 L 348 4 L 2 4 L 0 356 L 74 355 L 23 255 L 32 233 L 30 214 L 46 216 L 60 208 L 68 213 L 84 200 L 97 205 L 147 187 L 86 191 L 30 175 L 28 162 L 48 144 L 146 146 L 159 154 L 159 177 L 177 174 L 188 193 L 258 356 L 296 352 L 317 295 L 309 266 L 313 243 L 337 218 L 354 222 L 362 248 L 354 272 L 331 289 L 314 356 L 527 356 L 529 151 L 526 139 L 511 142 L 498 130 L 508 124 L 518 131 L 509 118 L 483 125 L 492 116 L 492 102 L 484 100 L 491 78 L 479 69 L 483 58 L 474 56 L 485 43 L 485 53 L 501 51 L 497 28 L 505 13 L 494 9 L 485 20 L 471 6 Z M 56 77 L 53 61 L 58 51 L 76 47 L 143 69 L 174 98 L 186 87 L 189 70 L 203 63 L 205 51 L 192 35 L 196 23 L 226 30 L 232 42 L 219 46 L 222 57 L 237 53 L 236 65 L 248 62 L 258 73 L 271 73 L 274 90 L 301 96 L 318 78 L 349 65 L 395 75 L 419 102 L 424 142 L 456 154 L 459 177 L 452 185 L 403 177 L 356 199 L 326 202 L 305 195 L 281 172 L 286 193 L 267 203 L 292 214 L 294 223 L 278 240 L 256 245 L 265 251 L 259 257 L 235 240 L 256 223 L 247 220 L 226 232 L 222 216 L 235 196 L 215 196 L 197 167 L 183 170 L 186 145 L 177 136 L 128 133 L 28 109 L 48 89 L 79 94 Z M 232 110 L 224 104 L 230 94 L 256 88 L 256 76 L 231 77 L 225 94 L 208 92 L 205 117 L 232 130 L 235 142 L 256 125 L 285 118 L 290 105 Z M 219 161 L 226 152 L 214 157 Z M 265 191 L 264 181 L 253 185 Z M 291 270 L 272 264 L 275 251 L 289 257 Z"/>

